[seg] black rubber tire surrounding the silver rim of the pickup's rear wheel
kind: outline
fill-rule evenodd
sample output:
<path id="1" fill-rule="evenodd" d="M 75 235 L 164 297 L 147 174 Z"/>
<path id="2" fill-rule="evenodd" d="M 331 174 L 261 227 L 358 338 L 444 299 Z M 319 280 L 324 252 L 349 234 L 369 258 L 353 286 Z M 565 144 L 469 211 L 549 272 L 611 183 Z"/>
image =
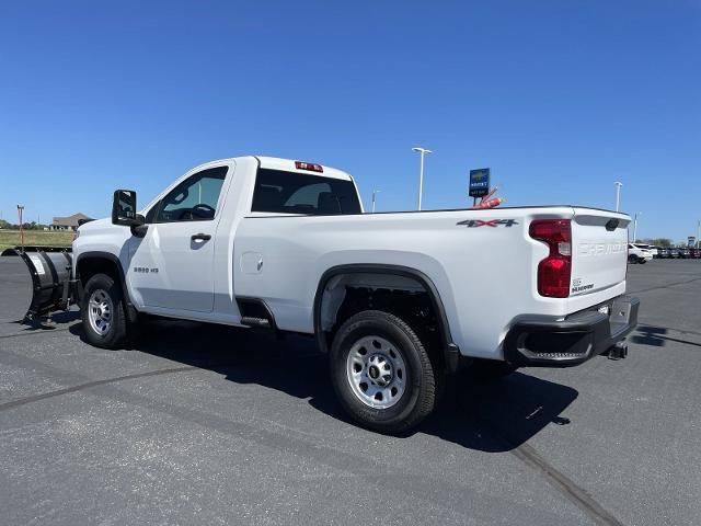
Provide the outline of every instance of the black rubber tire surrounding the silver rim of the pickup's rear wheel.
<path id="1" fill-rule="evenodd" d="M 366 336 L 379 336 L 399 352 L 406 369 L 404 392 L 383 409 L 368 405 L 354 392 L 348 378 L 348 355 Z M 436 374 L 428 352 L 414 330 L 397 316 L 366 310 L 350 317 L 336 332 L 330 351 L 331 378 L 344 410 L 360 426 L 380 433 L 403 433 L 428 416 L 436 405 Z"/>

